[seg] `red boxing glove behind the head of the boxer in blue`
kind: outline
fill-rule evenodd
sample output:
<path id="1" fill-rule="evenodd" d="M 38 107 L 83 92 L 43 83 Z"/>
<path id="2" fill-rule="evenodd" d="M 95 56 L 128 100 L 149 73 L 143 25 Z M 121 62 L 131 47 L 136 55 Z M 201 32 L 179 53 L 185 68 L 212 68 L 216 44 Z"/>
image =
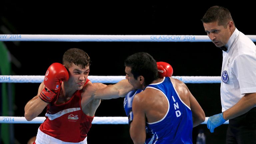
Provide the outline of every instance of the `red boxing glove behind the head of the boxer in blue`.
<path id="1" fill-rule="evenodd" d="M 171 77 L 173 74 L 172 66 L 166 62 L 157 62 L 157 71 L 159 78 Z"/>

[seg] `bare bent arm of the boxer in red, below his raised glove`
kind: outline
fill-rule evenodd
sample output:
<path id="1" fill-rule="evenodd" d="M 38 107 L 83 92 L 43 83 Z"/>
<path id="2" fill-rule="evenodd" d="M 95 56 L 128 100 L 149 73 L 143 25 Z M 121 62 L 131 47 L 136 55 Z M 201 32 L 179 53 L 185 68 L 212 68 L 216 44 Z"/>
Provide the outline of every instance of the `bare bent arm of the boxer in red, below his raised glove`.
<path id="1" fill-rule="evenodd" d="M 25 118 L 27 121 L 31 121 L 34 118 L 36 118 L 48 104 L 39 98 L 39 95 L 43 88 L 44 88 L 44 84 L 41 83 L 38 88 L 37 96 L 32 98 L 30 101 L 28 101 L 28 103 L 26 104 L 26 106 L 24 108 L 24 110 L 25 110 L 24 115 L 25 115 Z"/>

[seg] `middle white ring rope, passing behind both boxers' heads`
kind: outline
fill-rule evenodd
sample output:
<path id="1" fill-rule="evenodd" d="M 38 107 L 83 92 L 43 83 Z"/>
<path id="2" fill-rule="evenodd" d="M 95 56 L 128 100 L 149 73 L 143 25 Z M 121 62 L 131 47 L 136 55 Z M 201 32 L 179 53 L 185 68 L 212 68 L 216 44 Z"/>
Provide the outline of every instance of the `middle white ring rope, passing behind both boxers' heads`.
<path id="1" fill-rule="evenodd" d="M 220 83 L 220 76 L 172 76 L 172 78 L 184 83 Z M 88 76 L 91 82 L 117 83 L 125 79 L 125 76 Z M 0 75 L 0 83 L 41 83 L 44 76 L 27 75 Z"/>

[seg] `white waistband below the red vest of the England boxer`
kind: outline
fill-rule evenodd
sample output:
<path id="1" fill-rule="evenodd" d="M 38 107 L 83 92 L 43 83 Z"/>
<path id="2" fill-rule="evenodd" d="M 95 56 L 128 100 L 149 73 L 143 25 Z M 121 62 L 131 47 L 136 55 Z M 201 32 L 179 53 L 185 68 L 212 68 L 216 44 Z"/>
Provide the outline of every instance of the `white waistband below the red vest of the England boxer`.
<path id="1" fill-rule="evenodd" d="M 72 142 L 64 142 L 59 139 L 56 139 L 52 136 L 49 136 L 45 133 L 43 133 L 39 128 L 36 135 L 36 144 L 87 144 L 87 137 L 78 143 L 72 143 Z"/>

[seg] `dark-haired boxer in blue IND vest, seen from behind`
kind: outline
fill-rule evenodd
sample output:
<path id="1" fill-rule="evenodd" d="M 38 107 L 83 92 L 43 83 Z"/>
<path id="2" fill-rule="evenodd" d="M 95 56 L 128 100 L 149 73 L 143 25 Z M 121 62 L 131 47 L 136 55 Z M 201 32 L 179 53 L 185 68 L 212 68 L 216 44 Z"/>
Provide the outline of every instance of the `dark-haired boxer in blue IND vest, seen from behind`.
<path id="1" fill-rule="evenodd" d="M 157 64 L 145 52 L 129 56 L 125 66 L 126 79 L 139 89 L 124 102 L 134 144 L 192 144 L 192 128 L 205 114 L 187 86 L 169 76 L 159 78 L 159 67 L 168 64 Z"/>

